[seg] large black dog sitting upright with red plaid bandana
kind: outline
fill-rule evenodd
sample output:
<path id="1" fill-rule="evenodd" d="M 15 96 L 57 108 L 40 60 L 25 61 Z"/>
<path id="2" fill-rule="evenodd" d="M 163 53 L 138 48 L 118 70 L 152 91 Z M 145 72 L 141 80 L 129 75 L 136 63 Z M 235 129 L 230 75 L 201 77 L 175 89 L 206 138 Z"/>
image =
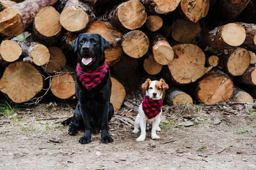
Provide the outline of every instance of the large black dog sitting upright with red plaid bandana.
<path id="1" fill-rule="evenodd" d="M 78 129 L 84 129 L 84 134 L 79 139 L 81 144 L 90 143 L 91 132 L 98 134 L 100 130 L 102 143 L 113 142 L 108 133 L 108 122 L 114 115 L 114 108 L 110 103 L 112 84 L 109 67 L 106 66 L 104 55 L 104 50 L 108 46 L 108 41 L 99 34 L 79 34 L 78 38 L 72 41 L 72 48 L 74 48 L 78 60 L 77 67 L 79 66 L 79 71 L 87 74 L 87 77 L 83 78 L 83 74 L 77 73 L 76 68 L 76 96 L 78 103 L 74 116 L 63 121 L 62 124 L 69 124 L 68 134 L 70 135 L 75 135 Z M 104 78 L 100 76 L 102 80 L 93 83 L 97 78 L 93 76 L 90 78 L 90 75 L 94 74 L 95 71 L 97 72 L 99 67 L 104 67 L 105 69 Z M 82 79 L 80 79 L 81 77 Z M 91 89 L 84 86 L 84 81 L 89 85 L 93 85 L 90 87 Z"/>

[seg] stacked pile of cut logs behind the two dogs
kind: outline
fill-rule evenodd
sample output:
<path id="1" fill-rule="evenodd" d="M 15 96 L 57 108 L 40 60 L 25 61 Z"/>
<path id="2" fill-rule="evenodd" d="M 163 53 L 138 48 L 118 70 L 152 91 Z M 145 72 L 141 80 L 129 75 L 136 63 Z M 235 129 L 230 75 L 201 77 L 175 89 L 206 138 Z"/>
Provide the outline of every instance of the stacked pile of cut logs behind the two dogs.
<path id="1" fill-rule="evenodd" d="M 15 103 L 74 96 L 70 44 L 90 32 L 110 43 L 115 110 L 148 77 L 168 82 L 168 104 L 252 103 L 255 7 L 252 0 L 0 0 L 0 90 Z"/>

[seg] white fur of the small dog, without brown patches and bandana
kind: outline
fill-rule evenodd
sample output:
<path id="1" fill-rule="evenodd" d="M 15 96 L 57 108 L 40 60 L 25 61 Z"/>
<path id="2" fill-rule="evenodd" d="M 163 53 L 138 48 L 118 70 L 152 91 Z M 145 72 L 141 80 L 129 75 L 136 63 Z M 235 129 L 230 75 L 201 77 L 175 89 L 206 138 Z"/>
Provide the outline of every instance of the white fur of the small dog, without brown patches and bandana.
<path id="1" fill-rule="evenodd" d="M 159 91 L 156 90 L 156 80 L 151 81 L 149 85 L 149 89 L 146 91 L 146 95 L 149 96 L 153 100 L 159 100 L 162 98 L 163 94 L 159 94 Z M 156 97 L 153 96 L 153 93 L 156 92 L 157 95 Z M 134 134 L 138 134 L 138 132 L 141 131 L 141 134 L 139 138 L 136 139 L 136 141 L 144 141 L 146 138 L 146 130 L 148 125 L 152 125 L 152 130 L 151 130 L 151 138 L 152 139 L 159 139 L 160 137 L 156 134 L 156 131 L 161 131 L 159 124 L 161 122 L 161 115 L 162 115 L 162 110 L 154 118 L 148 119 L 145 116 L 145 113 L 142 109 L 142 103 L 140 104 L 138 115 L 136 117 L 136 120 L 134 122 L 134 130 L 132 131 Z"/>

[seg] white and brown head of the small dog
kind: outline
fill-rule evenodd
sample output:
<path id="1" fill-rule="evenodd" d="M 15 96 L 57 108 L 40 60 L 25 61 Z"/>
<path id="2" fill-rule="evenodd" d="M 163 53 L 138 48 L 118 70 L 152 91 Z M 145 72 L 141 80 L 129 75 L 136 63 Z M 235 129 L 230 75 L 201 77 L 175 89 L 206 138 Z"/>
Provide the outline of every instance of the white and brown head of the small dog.
<path id="1" fill-rule="evenodd" d="M 142 89 L 146 91 L 146 95 L 153 100 L 159 100 L 163 97 L 164 90 L 168 89 L 168 85 L 163 78 L 159 81 L 151 81 L 149 78 L 141 85 Z"/>

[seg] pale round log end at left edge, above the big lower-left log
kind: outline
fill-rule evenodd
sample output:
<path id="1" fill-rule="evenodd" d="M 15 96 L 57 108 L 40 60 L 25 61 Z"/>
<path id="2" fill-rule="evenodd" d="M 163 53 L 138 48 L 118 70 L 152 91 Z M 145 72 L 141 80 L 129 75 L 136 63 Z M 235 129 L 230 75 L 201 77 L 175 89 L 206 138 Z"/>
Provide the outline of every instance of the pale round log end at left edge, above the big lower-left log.
<path id="1" fill-rule="evenodd" d="M 14 41 L 2 41 L 0 45 L 0 55 L 5 61 L 13 62 L 19 59 L 21 53 L 21 47 Z"/>

